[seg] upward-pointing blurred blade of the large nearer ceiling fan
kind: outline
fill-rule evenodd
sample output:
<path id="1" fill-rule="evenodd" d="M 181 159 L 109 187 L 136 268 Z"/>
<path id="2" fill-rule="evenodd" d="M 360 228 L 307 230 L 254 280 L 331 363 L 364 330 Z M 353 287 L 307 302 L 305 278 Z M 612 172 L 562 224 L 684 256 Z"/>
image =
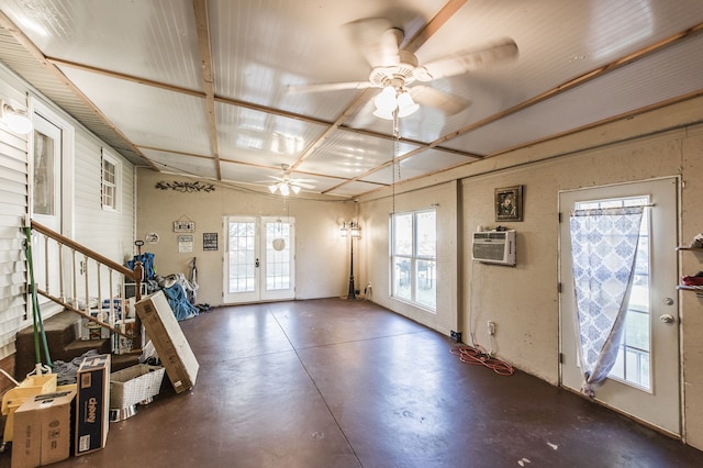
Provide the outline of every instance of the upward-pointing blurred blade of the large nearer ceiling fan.
<path id="1" fill-rule="evenodd" d="M 352 41 L 372 68 L 400 64 L 400 43 L 404 34 L 383 18 L 347 23 Z"/>

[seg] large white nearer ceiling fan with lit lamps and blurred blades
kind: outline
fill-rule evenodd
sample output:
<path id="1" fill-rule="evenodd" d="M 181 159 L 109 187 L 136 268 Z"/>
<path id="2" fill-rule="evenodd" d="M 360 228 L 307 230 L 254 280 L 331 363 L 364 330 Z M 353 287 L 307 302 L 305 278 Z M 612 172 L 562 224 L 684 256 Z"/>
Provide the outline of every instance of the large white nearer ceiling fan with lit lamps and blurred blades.
<path id="1" fill-rule="evenodd" d="M 469 102 L 425 85 L 409 86 L 415 81 L 429 82 L 439 78 L 466 74 L 516 58 L 517 45 L 512 40 L 490 44 L 486 48 L 457 52 L 426 64 L 420 64 L 415 54 L 402 51 L 404 32 L 386 19 L 365 19 L 349 23 L 352 40 L 371 66 L 368 81 L 332 82 L 291 86 L 293 92 L 334 91 L 342 89 L 382 88 L 373 99 L 375 115 L 391 120 L 410 115 L 419 104 L 455 114 Z"/>

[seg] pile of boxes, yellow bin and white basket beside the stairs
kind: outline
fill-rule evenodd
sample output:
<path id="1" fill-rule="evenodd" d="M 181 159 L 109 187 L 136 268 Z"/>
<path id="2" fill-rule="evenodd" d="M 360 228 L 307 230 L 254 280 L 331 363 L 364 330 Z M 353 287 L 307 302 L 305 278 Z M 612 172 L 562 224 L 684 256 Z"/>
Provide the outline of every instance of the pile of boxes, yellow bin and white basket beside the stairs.
<path id="1" fill-rule="evenodd" d="M 111 372 L 111 355 L 87 353 L 77 361 L 43 364 L 46 337 L 35 315 L 35 369 L 2 398 L 3 448 L 11 443 L 12 467 L 36 467 L 103 448 L 110 422 L 126 420 L 159 393 L 164 374 L 176 393 L 193 388 L 199 364 L 167 296 L 158 290 L 135 303 L 153 349 L 140 364 Z M 144 356 L 144 355 L 143 355 Z M 60 374 L 59 374 L 60 372 Z"/>

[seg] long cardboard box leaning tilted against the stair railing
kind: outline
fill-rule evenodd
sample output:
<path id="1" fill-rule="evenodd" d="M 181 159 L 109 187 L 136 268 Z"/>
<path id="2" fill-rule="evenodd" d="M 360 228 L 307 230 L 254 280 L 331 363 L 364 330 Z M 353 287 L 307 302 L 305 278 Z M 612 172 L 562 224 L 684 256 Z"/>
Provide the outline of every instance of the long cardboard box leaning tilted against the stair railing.
<path id="1" fill-rule="evenodd" d="M 176 393 L 191 389 L 200 365 L 164 291 L 147 296 L 135 308 Z"/>

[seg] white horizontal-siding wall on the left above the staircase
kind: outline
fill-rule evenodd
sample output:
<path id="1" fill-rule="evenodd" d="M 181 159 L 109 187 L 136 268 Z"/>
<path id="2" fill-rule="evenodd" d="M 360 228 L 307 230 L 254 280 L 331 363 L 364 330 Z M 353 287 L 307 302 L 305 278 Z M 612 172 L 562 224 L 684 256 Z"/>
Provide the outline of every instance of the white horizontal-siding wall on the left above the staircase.
<path id="1" fill-rule="evenodd" d="M 0 96 L 24 104 L 27 93 L 41 103 L 42 109 L 56 112 L 74 130 L 75 142 L 68 155 L 71 164 L 64 167 L 63 174 L 63 183 L 72 186 L 67 197 L 71 215 L 68 225 L 64 226 L 64 234 L 108 258 L 124 263 L 133 255 L 134 166 L 0 65 Z M 27 137 L 9 132 L 0 122 L 0 359 L 15 352 L 16 332 L 32 324 L 26 301 L 23 232 L 31 203 L 27 148 Z M 121 203 L 116 211 L 103 210 L 101 204 L 103 149 L 120 161 Z"/>

